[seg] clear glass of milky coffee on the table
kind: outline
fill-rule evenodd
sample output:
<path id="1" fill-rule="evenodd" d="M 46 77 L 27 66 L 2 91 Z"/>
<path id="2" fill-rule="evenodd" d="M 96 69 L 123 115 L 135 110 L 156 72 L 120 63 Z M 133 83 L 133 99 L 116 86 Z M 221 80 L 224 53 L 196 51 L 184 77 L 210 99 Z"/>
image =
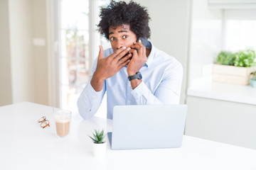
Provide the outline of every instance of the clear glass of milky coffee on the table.
<path id="1" fill-rule="evenodd" d="M 65 137 L 70 132 L 71 112 L 58 110 L 54 112 L 57 137 Z"/>

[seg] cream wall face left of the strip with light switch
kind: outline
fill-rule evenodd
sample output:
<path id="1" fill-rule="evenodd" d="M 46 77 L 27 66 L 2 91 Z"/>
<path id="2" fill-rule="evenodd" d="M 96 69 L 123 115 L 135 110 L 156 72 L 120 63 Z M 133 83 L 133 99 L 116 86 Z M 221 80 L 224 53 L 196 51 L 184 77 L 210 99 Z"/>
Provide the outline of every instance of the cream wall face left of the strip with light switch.
<path id="1" fill-rule="evenodd" d="M 31 1 L 9 0 L 13 103 L 34 101 Z"/>

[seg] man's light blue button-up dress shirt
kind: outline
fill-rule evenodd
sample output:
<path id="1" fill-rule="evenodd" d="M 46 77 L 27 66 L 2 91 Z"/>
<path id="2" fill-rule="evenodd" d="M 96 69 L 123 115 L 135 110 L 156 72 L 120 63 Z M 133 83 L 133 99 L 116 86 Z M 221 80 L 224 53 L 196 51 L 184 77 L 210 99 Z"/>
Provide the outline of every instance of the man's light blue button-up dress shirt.
<path id="1" fill-rule="evenodd" d="M 183 68 L 174 57 L 158 50 L 151 42 L 151 52 L 147 62 L 139 70 L 142 83 L 134 90 L 128 80 L 127 67 L 123 67 L 113 77 L 106 79 L 101 91 L 95 91 L 90 84 L 97 66 L 97 59 L 92 66 L 92 74 L 85 89 L 78 98 L 78 111 L 82 118 L 91 118 L 100 107 L 107 91 L 107 118 L 112 119 L 113 107 L 118 105 L 178 104 L 181 94 Z M 147 46 L 148 46 L 147 45 Z M 114 51 L 104 51 L 104 57 Z"/>

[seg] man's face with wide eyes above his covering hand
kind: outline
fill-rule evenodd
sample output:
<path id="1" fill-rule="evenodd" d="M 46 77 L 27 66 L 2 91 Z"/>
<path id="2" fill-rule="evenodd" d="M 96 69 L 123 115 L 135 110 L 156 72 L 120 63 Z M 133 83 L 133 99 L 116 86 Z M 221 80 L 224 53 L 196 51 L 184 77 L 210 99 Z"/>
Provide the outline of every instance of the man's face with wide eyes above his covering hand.
<path id="1" fill-rule="evenodd" d="M 129 24 L 123 24 L 122 26 L 109 28 L 110 43 L 114 51 L 121 47 L 131 47 L 133 42 L 136 42 L 137 37 L 132 30 L 130 30 Z"/>

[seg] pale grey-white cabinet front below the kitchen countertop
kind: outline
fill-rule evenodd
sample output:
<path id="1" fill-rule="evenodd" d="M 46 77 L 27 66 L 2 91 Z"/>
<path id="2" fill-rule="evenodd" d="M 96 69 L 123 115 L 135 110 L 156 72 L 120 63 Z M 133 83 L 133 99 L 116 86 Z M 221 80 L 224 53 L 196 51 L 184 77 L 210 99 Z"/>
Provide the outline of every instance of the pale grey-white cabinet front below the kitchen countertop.
<path id="1" fill-rule="evenodd" d="M 256 149 L 256 105 L 188 96 L 185 134 Z"/>

